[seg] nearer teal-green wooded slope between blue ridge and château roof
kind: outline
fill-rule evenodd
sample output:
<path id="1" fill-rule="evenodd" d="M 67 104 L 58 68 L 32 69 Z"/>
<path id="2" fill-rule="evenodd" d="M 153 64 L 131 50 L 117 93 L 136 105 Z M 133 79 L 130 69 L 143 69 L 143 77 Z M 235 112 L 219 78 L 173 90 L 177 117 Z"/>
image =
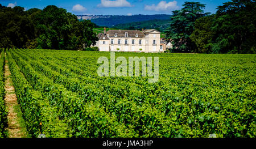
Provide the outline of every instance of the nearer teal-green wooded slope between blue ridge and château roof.
<path id="1" fill-rule="evenodd" d="M 170 19 L 168 20 L 148 20 L 143 22 L 132 22 L 125 24 L 114 25 L 114 28 L 120 29 L 157 29 L 160 32 L 164 32 L 168 27 L 170 27 Z"/>

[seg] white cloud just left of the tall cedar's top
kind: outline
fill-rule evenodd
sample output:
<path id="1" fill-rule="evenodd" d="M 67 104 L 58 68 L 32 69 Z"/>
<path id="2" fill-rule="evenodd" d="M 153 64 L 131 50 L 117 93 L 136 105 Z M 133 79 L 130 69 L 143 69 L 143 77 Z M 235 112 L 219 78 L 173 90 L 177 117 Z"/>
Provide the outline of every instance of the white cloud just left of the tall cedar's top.
<path id="1" fill-rule="evenodd" d="M 173 2 L 166 2 L 161 1 L 158 3 L 158 5 L 145 5 L 144 10 L 153 10 L 153 11 L 173 11 L 179 9 L 179 6 L 177 6 L 177 1 Z"/>

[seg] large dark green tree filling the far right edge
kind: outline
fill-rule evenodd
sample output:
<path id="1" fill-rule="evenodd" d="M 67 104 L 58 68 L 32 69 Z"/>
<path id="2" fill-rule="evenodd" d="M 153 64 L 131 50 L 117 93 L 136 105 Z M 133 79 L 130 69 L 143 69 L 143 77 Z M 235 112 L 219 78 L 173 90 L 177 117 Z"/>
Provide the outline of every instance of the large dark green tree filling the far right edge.
<path id="1" fill-rule="evenodd" d="M 210 48 L 213 53 L 256 53 L 254 0 L 233 0 L 218 6 Z"/>

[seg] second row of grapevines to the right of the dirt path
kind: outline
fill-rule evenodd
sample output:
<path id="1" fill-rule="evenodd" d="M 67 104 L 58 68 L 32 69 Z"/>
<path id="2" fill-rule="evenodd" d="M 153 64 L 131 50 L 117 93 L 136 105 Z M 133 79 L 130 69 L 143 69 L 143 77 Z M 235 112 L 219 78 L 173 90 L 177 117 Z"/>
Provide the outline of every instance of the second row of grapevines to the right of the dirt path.
<path id="1" fill-rule="evenodd" d="M 31 65 L 15 53 L 14 57 L 24 76 L 34 90 L 43 92 L 52 106 L 57 107 L 59 116 L 68 122 L 71 135 L 76 137 L 114 137 L 127 136 L 124 125 L 118 124 L 115 116 L 109 116 L 96 102 L 84 103 L 76 93 L 65 90 L 46 76 L 37 73 Z M 106 133 L 108 132 L 108 133 Z"/>

